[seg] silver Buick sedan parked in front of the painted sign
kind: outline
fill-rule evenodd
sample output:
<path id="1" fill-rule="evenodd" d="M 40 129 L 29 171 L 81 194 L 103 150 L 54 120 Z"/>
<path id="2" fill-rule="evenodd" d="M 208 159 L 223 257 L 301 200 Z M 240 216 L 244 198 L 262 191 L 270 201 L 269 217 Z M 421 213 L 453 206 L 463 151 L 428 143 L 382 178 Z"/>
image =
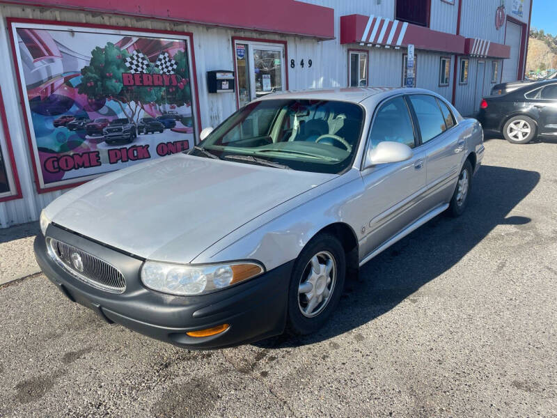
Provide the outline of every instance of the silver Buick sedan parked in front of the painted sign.
<path id="1" fill-rule="evenodd" d="M 462 214 L 484 152 L 420 89 L 267 95 L 201 137 L 63 194 L 35 242 L 70 300 L 187 348 L 315 332 L 347 273 Z"/>

